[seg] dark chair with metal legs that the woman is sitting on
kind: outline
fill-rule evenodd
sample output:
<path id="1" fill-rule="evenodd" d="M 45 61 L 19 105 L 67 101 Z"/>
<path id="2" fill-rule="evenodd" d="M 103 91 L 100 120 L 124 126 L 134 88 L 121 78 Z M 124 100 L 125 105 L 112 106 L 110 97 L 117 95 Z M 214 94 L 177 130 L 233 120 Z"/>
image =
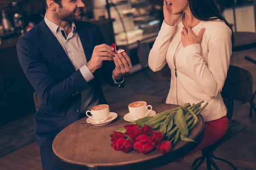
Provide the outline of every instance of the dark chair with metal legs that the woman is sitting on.
<path id="1" fill-rule="evenodd" d="M 253 94 L 253 78 L 252 74 L 249 71 L 246 71 L 242 68 L 230 65 L 227 72 L 227 79 L 222 88 L 221 96 L 223 97 L 224 103 L 227 107 L 227 117 L 229 119 L 229 127 L 226 134 L 215 144 L 212 144 L 209 147 L 206 147 L 202 150 L 202 156 L 195 159 L 192 164 L 192 169 L 196 170 L 201 164 L 204 163 L 204 160 L 207 161 L 207 170 L 211 170 L 211 165 L 216 169 L 220 170 L 215 164 L 213 159 L 224 161 L 229 164 L 234 170 L 237 170 L 235 165 L 230 161 L 227 161 L 222 158 L 218 158 L 213 155 L 213 152 L 224 142 L 228 141 L 230 138 L 235 136 L 245 127 L 246 124 L 232 120 L 233 115 L 233 100 L 239 100 L 243 102 L 249 102 Z M 199 161 L 199 162 L 198 162 Z"/>

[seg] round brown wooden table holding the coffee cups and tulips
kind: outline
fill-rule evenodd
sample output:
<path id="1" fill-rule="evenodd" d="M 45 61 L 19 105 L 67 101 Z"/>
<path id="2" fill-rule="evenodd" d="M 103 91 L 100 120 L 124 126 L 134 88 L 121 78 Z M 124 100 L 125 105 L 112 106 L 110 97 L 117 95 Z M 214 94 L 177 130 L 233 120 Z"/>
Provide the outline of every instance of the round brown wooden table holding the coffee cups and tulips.
<path id="1" fill-rule="evenodd" d="M 178 105 L 150 104 L 157 113 L 177 108 Z M 148 155 L 116 151 L 111 147 L 110 135 L 113 131 L 128 125 L 123 119 L 128 113 L 128 106 L 110 108 L 118 117 L 108 125 L 94 126 L 86 123 L 87 117 L 80 119 L 64 128 L 52 143 L 55 162 L 67 170 L 147 170 L 160 167 L 182 158 L 191 152 L 204 137 L 204 120 L 198 116 L 198 125 L 189 133 L 189 138 L 195 142 L 179 141 L 168 154 L 153 151 Z"/>

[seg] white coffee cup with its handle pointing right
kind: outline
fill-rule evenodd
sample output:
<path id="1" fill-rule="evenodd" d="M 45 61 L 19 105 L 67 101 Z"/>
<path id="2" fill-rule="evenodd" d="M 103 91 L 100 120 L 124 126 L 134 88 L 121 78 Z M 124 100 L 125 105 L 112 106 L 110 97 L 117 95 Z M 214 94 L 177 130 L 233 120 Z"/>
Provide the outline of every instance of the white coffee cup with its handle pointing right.
<path id="1" fill-rule="evenodd" d="M 148 111 L 148 107 L 150 107 L 150 111 Z M 130 105 L 128 105 L 128 108 L 131 116 L 136 119 L 141 119 L 145 116 L 148 116 L 148 113 L 152 111 L 152 106 L 147 105 L 147 102 L 143 101 L 133 102 Z"/>

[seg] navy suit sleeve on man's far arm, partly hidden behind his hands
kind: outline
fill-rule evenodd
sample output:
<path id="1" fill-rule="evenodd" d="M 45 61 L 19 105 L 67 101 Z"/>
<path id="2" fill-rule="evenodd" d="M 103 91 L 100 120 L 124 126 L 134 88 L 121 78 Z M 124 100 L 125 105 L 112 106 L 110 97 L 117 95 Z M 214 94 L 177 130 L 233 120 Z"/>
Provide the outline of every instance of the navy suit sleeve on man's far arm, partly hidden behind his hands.
<path id="1" fill-rule="evenodd" d="M 99 42 L 98 45 L 104 44 L 105 40 L 104 40 L 104 37 L 103 37 L 102 32 L 100 31 L 99 27 L 97 27 L 97 34 L 98 34 L 97 37 L 98 37 L 98 42 Z M 115 63 L 113 61 L 103 61 L 102 68 L 100 68 L 101 75 L 109 85 L 119 87 L 119 88 L 123 88 L 124 85 L 125 85 L 124 76 L 122 77 L 122 83 L 117 83 L 113 80 L 112 72 L 115 69 L 115 67 L 116 66 L 115 66 Z"/>

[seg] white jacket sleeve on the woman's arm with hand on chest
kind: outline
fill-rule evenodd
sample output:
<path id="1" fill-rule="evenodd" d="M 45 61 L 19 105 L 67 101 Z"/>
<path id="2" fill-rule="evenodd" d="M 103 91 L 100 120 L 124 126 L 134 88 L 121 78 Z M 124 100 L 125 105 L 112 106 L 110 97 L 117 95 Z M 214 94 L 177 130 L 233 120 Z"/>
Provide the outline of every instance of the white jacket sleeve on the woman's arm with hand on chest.
<path id="1" fill-rule="evenodd" d="M 201 56 L 200 44 L 188 45 L 182 56 L 188 70 L 185 74 L 192 77 L 209 97 L 217 96 L 227 77 L 232 54 L 231 30 L 218 29 L 209 40 L 207 63 Z"/>

